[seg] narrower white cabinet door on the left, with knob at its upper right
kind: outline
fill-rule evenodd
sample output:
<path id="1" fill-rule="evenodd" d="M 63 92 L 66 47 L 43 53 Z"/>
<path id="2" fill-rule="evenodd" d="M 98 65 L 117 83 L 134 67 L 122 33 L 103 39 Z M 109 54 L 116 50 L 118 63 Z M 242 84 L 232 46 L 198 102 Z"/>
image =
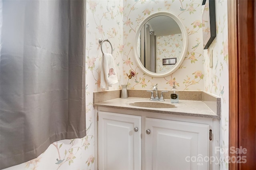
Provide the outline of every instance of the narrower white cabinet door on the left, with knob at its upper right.
<path id="1" fill-rule="evenodd" d="M 99 169 L 140 170 L 141 116 L 110 112 L 98 112 L 98 116 Z"/>

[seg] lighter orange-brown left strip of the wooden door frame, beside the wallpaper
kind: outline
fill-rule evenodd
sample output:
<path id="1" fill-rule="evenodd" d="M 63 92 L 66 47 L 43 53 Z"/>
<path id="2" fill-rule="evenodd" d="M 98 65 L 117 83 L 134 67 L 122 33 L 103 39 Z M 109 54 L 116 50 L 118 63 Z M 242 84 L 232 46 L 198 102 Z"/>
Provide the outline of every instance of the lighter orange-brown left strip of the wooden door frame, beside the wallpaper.
<path id="1" fill-rule="evenodd" d="M 238 61 L 236 2 L 228 1 L 228 75 L 229 75 L 229 148 L 238 147 Z M 230 153 L 230 151 L 229 151 Z M 230 157 L 237 154 L 229 154 Z M 238 164 L 229 164 L 229 170 L 238 170 Z"/>

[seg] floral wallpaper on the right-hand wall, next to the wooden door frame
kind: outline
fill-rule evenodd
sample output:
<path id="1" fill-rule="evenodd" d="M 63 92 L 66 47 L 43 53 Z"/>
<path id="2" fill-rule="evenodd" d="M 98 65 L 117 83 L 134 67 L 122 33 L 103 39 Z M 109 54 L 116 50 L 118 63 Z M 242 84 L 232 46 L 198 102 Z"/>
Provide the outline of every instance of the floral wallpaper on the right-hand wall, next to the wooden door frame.
<path id="1" fill-rule="evenodd" d="M 228 2 L 215 0 L 217 36 L 204 50 L 205 91 L 221 97 L 220 148 L 228 150 Z M 210 67 L 212 56 L 213 67 Z M 220 169 L 228 170 L 228 152 L 220 154 Z"/>

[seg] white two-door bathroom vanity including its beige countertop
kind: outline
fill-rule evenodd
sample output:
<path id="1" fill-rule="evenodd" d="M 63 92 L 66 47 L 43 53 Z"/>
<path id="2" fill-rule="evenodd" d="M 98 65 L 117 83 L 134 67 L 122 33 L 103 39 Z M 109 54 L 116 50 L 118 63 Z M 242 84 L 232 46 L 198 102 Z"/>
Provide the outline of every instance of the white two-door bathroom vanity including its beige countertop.
<path id="1" fill-rule="evenodd" d="M 218 170 L 220 115 L 207 102 L 129 97 L 94 103 L 98 169 Z"/>

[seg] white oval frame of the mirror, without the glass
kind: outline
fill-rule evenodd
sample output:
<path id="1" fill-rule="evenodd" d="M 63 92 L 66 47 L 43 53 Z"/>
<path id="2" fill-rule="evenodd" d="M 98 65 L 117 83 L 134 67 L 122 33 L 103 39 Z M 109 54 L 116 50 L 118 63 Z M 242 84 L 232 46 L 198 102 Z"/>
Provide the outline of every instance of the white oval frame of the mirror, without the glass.
<path id="1" fill-rule="evenodd" d="M 180 56 L 180 59 L 177 61 L 177 63 L 175 64 L 175 66 L 170 69 L 169 71 L 167 72 L 162 72 L 162 73 L 154 73 L 154 72 L 150 72 L 148 71 L 143 65 L 142 63 L 140 62 L 140 58 L 138 57 L 138 50 L 137 49 L 137 45 L 138 45 L 138 37 L 139 37 L 139 34 L 140 34 L 140 30 L 142 29 L 142 27 L 146 24 L 146 22 L 148 22 L 148 20 L 150 20 L 151 18 L 154 18 L 156 16 L 169 16 L 170 18 L 172 18 L 174 21 L 177 22 L 178 26 L 180 27 L 180 30 L 181 30 L 181 33 L 182 33 L 182 38 L 183 38 L 183 49 L 182 49 L 182 52 L 181 52 L 181 56 Z M 186 52 L 188 50 L 188 34 L 187 34 L 187 31 L 186 31 L 186 28 L 185 26 L 182 24 L 181 20 L 175 16 L 174 14 L 172 13 L 169 13 L 169 12 L 156 12 L 150 16 L 148 16 L 143 22 L 142 24 L 140 25 L 140 27 L 138 28 L 138 31 L 136 32 L 136 35 L 135 35 L 135 42 L 134 42 L 134 54 L 135 54 L 135 59 L 136 59 L 136 63 L 138 64 L 139 68 L 147 75 L 149 76 L 152 76 L 152 77 L 164 77 L 164 76 L 168 76 L 170 74 L 172 74 L 173 72 L 175 72 L 179 67 L 180 65 L 182 64 L 185 56 L 186 56 Z"/>

